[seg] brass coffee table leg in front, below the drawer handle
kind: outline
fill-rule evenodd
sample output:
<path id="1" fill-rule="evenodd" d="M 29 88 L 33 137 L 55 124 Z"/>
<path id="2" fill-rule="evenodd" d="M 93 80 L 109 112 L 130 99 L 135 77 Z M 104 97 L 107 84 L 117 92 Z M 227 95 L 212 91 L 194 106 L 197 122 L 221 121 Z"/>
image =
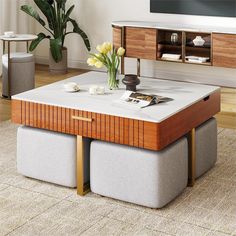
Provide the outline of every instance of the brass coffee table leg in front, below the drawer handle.
<path id="1" fill-rule="evenodd" d="M 77 194 L 84 196 L 90 192 L 90 184 L 84 183 L 84 140 L 82 136 L 77 136 Z"/>

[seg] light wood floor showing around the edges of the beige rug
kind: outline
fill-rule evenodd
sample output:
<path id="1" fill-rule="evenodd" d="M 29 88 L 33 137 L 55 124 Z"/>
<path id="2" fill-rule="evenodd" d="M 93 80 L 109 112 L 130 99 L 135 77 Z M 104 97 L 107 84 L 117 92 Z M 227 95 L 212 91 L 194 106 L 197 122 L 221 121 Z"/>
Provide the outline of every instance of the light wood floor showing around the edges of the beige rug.
<path id="1" fill-rule="evenodd" d="M 66 75 L 51 75 L 47 66 L 36 66 L 36 87 L 63 80 L 87 72 L 81 69 L 69 69 Z M 0 82 L 0 91 L 2 83 Z M 216 115 L 219 127 L 236 129 L 236 89 L 222 88 L 221 112 Z M 11 117 L 11 101 L 0 99 L 0 122 Z"/>

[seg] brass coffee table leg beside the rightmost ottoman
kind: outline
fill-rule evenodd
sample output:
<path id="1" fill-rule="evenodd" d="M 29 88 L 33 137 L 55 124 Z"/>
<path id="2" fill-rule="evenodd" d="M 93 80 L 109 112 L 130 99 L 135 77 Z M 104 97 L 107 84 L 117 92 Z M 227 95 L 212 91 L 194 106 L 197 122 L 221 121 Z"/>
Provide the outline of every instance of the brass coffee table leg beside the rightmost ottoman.
<path id="1" fill-rule="evenodd" d="M 193 187 L 195 184 L 196 171 L 196 144 L 195 144 L 195 128 L 188 135 L 188 186 Z"/>

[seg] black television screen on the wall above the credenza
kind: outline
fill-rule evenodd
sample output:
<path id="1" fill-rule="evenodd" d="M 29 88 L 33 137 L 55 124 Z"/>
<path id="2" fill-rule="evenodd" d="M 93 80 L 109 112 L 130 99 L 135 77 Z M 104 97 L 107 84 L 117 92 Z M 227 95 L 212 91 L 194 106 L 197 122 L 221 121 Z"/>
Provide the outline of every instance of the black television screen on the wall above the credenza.
<path id="1" fill-rule="evenodd" d="M 150 0 L 156 13 L 205 16 L 236 16 L 236 0 Z"/>

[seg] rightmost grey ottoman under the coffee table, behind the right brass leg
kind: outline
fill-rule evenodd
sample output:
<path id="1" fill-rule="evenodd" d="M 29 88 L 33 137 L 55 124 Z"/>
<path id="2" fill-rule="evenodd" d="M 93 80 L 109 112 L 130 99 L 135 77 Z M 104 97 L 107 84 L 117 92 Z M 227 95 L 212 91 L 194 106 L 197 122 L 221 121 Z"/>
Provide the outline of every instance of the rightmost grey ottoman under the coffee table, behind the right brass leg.
<path id="1" fill-rule="evenodd" d="M 217 160 L 217 123 L 211 118 L 196 128 L 196 178 L 206 173 Z"/>

